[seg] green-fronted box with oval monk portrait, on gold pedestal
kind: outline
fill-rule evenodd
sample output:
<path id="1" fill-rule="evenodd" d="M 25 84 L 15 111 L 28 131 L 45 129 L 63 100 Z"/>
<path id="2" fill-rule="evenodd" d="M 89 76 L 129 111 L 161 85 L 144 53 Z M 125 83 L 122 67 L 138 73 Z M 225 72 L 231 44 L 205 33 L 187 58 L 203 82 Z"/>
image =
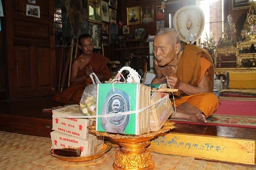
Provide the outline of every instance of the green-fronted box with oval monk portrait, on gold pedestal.
<path id="1" fill-rule="evenodd" d="M 96 130 L 119 134 L 140 135 L 150 132 L 149 108 L 132 114 L 150 103 L 150 87 L 139 83 L 102 83 L 97 88 Z M 116 113 L 117 116 L 108 116 Z"/>

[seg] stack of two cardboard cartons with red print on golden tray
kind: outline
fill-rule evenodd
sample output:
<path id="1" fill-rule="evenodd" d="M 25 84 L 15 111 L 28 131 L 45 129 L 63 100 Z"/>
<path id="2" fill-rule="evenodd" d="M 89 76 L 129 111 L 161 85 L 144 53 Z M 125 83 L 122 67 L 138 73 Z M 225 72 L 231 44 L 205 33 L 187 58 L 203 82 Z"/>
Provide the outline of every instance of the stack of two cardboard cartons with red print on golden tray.
<path id="1" fill-rule="evenodd" d="M 89 133 L 87 129 L 92 121 L 88 118 L 72 118 L 83 115 L 79 111 L 79 105 L 54 109 L 52 113 L 52 148 L 80 147 L 81 156 L 94 155 L 101 150 L 104 138 Z"/>

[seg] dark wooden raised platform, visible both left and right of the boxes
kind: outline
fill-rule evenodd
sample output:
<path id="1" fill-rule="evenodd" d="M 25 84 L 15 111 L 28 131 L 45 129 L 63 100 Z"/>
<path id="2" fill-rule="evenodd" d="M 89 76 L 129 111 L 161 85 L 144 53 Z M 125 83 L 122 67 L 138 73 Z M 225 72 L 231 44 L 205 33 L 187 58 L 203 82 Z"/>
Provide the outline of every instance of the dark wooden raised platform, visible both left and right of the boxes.
<path id="1" fill-rule="evenodd" d="M 50 138 L 52 113 L 43 112 L 63 104 L 54 103 L 52 96 L 0 100 L 0 131 Z M 256 141 L 256 129 L 213 125 L 176 123 L 175 133 L 208 135 Z"/>

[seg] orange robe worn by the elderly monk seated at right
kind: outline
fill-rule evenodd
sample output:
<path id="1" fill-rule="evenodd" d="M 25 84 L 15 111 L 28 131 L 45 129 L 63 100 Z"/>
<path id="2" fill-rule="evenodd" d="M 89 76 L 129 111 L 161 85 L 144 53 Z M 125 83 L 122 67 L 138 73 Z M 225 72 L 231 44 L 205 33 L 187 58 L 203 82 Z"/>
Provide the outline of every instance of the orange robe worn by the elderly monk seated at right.
<path id="1" fill-rule="evenodd" d="M 197 87 L 206 73 L 209 83 L 209 92 L 195 95 L 186 95 L 175 99 L 175 105 L 179 106 L 185 102 L 199 108 L 207 117 L 212 115 L 219 107 L 219 99 L 213 93 L 214 89 L 214 67 L 213 61 L 204 48 L 187 44 L 177 67 L 176 77 L 185 83 Z M 183 92 L 180 92 L 183 93 Z"/>

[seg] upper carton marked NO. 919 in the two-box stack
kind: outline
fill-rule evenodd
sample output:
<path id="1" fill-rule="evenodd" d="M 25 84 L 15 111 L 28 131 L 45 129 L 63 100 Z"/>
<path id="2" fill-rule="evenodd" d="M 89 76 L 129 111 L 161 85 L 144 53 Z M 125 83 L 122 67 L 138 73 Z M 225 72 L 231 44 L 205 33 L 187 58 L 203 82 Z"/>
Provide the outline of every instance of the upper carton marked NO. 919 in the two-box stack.
<path id="1" fill-rule="evenodd" d="M 52 114 L 56 116 L 83 116 L 79 111 L 79 107 L 79 105 L 70 105 L 64 108 L 54 109 L 52 110 Z M 87 126 L 90 125 L 92 125 L 92 121 L 87 118 L 52 118 L 52 130 L 81 139 L 93 137 L 93 134 L 87 130 Z"/>

